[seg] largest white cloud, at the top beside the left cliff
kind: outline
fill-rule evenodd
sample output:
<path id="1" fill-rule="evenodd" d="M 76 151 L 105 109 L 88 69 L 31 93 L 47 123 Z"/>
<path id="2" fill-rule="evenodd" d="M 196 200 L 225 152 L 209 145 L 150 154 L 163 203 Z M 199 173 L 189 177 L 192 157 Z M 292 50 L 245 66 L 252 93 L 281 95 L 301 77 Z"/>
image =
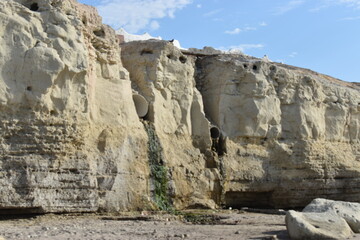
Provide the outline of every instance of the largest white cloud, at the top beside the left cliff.
<path id="1" fill-rule="evenodd" d="M 118 29 L 137 33 L 150 28 L 158 29 L 154 19 L 174 18 L 175 12 L 190 4 L 192 0 L 102 0 L 97 8 L 103 21 Z"/>

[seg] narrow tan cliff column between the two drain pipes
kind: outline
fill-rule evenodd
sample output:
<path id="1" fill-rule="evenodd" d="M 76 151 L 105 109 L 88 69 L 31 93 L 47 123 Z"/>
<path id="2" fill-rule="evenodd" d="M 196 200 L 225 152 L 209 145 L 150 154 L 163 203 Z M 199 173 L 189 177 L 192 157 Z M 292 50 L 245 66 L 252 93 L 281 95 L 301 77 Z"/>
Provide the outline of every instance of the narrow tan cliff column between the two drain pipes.
<path id="1" fill-rule="evenodd" d="M 150 104 L 144 120 L 160 139 L 173 205 L 215 207 L 219 171 L 206 168 L 206 155 L 213 157 L 210 125 L 195 88 L 194 59 L 167 41 L 130 42 L 121 49 L 134 91 Z"/>

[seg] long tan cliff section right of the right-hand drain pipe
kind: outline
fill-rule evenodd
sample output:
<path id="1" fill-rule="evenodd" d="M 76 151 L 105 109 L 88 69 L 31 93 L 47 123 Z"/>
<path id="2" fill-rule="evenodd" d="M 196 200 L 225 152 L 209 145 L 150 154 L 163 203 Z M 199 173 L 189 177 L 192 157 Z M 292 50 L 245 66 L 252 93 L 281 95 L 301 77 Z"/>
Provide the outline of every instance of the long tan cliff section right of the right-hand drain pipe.
<path id="1" fill-rule="evenodd" d="M 203 57 L 197 67 L 205 112 L 229 137 L 228 205 L 359 201 L 355 84 L 244 56 Z"/>

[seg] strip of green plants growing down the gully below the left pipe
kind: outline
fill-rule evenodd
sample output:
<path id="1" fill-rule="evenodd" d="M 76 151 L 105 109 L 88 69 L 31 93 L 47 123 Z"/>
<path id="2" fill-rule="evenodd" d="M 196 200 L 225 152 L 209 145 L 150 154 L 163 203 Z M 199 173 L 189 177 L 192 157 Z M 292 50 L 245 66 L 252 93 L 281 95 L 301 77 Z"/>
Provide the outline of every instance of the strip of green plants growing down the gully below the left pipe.
<path id="1" fill-rule="evenodd" d="M 172 204 L 168 194 L 168 169 L 164 163 L 163 148 L 154 124 L 148 121 L 143 121 L 143 124 L 148 135 L 152 198 L 160 210 L 171 210 Z"/>

